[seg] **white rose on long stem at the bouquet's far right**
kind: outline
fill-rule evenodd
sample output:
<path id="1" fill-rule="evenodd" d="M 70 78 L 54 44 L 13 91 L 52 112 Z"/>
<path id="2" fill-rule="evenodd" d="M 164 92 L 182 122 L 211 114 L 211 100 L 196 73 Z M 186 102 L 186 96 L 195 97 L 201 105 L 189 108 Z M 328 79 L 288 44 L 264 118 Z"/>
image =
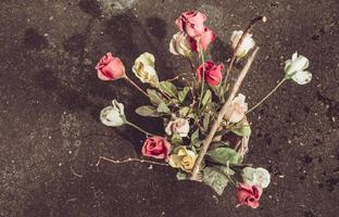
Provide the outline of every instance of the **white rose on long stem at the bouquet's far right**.
<path id="1" fill-rule="evenodd" d="M 312 79 L 312 74 L 304 71 L 309 67 L 309 59 L 303 55 L 293 53 L 292 60 L 288 60 L 285 63 L 285 78 L 292 79 L 299 85 L 306 85 Z"/>

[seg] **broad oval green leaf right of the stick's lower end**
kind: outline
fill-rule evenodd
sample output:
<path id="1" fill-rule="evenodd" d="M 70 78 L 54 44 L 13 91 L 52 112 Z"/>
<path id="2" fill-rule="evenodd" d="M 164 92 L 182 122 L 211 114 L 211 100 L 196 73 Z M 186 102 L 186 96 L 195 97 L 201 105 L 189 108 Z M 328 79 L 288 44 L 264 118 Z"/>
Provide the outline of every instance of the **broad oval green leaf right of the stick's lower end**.
<path id="1" fill-rule="evenodd" d="M 230 148 L 216 148 L 208 153 L 212 159 L 219 164 L 239 164 L 241 157 L 235 150 Z"/>

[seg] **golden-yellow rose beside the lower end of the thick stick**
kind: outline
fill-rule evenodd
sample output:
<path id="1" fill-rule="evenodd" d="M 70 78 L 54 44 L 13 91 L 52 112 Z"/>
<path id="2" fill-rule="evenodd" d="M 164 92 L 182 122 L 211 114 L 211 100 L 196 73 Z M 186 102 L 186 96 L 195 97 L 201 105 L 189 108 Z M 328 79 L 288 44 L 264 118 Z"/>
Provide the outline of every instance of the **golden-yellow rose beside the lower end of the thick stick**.
<path id="1" fill-rule="evenodd" d="M 190 173 L 194 166 L 197 154 L 186 146 L 178 146 L 174 150 L 174 153 L 170 156 L 170 166 L 174 168 L 180 168 L 186 173 Z"/>

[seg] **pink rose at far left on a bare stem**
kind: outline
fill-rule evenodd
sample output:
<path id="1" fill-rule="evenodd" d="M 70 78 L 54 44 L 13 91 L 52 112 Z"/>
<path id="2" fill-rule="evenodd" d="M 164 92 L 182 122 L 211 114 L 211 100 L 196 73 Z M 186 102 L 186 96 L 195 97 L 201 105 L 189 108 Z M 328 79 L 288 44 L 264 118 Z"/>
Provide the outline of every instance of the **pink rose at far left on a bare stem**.
<path id="1" fill-rule="evenodd" d="M 112 53 L 106 53 L 102 56 L 96 69 L 101 80 L 116 80 L 125 75 L 123 62 L 118 58 L 114 58 Z"/>

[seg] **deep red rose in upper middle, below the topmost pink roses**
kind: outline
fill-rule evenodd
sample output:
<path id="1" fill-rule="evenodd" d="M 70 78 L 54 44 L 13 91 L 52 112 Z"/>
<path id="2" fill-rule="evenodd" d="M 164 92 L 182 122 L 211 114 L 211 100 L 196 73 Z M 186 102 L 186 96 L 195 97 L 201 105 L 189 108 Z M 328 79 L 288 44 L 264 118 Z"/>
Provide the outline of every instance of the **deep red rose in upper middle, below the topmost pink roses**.
<path id="1" fill-rule="evenodd" d="M 204 80 L 211 86 L 217 86 L 223 79 L 223 68 L 224 64 L 215 65 L 213 61 L 206 61 L 204 63 Z M 201 80 L 202 74 L 203 66 L 201 64 L 197 68 L 198 80 Z"/>

